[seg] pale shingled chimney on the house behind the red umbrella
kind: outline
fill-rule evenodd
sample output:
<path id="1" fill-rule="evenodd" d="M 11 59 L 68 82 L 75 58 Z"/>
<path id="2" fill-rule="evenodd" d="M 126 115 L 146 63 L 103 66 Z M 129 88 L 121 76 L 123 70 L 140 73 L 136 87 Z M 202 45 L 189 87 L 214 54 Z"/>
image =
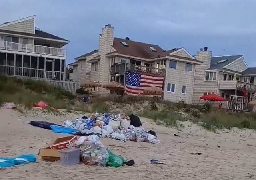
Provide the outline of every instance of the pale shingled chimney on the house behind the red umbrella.
<path id="1" fill-rule="evenodd" d="M 196 53 L 196 59 L 203 63 L 202 65 L 198 65 L 198 67 L 206 70 L 211 66 L 212 51 L 208 51 L 208 47 L 204 47 L 204 51 L 201 48 L 200 51 Z"/>

